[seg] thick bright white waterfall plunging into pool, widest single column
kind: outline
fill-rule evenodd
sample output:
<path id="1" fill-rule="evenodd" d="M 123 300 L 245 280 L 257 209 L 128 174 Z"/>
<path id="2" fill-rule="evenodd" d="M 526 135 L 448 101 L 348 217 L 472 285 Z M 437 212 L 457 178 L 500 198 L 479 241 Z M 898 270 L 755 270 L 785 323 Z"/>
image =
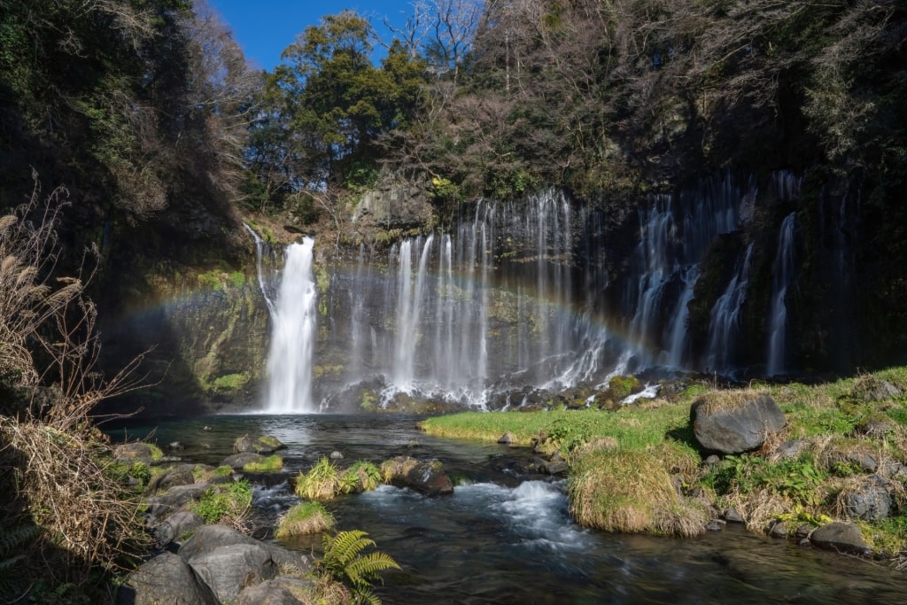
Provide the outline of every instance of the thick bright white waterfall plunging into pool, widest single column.
<path id="1" fill-rule="evenodd" d="M 312 356 L 316 337 L 316 288 L 312 277 L 315 240 L 304 238 L 286 250 L 283 276 L 273 306 L 268 352 L 271 414 L 306 414 L 312 405 Z M 266 297 L 267 298 L 267 297 Z"/>

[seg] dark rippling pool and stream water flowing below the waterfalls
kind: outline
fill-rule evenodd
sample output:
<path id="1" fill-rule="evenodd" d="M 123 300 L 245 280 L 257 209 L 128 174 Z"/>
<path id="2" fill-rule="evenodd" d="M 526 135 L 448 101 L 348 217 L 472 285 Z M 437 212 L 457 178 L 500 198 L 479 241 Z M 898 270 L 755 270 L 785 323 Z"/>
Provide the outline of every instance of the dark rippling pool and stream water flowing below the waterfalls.
<path id="1" fill-rule="evenodd" d="M 285 476 L 333 451 L 345 463 L 436 457 L 472 483 L 426 498 L 383 486 L 327 503 L 341 530 L 361 529 L 402 571 L 375 592 L 385 603 L 829 603 L 907 602 L 901 572 L 728 527 L 695 539 L 615 535 L 571 522 L 562 485 L 517 482 L 486 464 L 506 446 L 422 434 L 414 416 L 218 416 L 108 429 L 180 441 L 186 460 L 218 464 L 243 434 L 288 445 Z M 205 430 L 205 429 L 208 430 Z M 417 445 L 416 445 L 417 443 Z M 296 502 L 287 483 L 260 486 L 258 506 Z M 291 544 L 308 551 L 312 541 Z"/>

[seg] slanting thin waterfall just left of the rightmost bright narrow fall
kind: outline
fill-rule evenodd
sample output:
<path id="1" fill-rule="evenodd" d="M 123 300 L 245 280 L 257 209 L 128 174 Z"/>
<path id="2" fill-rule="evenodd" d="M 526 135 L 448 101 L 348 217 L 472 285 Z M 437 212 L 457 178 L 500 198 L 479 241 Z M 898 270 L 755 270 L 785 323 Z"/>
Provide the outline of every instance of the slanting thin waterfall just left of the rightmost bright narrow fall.
<path id="1" fill-rule="evenodd" d="M 708 332 L 707 371 L 731 372 L 735 353 L 735 342 L 740 327 L 740 307 L 746 301 L 749 286 L 749 268 L 753 260 L 753 244 L 746 247 L 742 262 L 738 261 L 734 277 L 725 288 L 724 294 L 712 307 Z"/>

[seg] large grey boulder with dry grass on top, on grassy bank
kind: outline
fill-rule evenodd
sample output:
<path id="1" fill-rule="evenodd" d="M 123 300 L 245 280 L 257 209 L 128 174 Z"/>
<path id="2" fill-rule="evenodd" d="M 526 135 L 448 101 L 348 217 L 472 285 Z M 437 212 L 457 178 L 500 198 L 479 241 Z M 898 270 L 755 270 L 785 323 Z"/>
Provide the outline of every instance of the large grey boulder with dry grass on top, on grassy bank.
<path id="1" fill-rule="evenodd" d="M 721 454 L 755 450 L 785 426 L 785 414 L 769 395 L 716 391 L 690 407 L 693 434 L 702 447 Z"/>

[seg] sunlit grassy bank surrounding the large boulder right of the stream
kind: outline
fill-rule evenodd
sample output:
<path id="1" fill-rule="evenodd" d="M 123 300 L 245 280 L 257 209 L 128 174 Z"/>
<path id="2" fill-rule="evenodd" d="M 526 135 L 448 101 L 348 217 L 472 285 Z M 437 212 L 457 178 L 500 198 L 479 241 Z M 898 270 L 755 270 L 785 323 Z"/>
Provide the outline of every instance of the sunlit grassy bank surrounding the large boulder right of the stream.
<path id="1" fill-rule="evenodd" d="M 900 390 L 892 395 L 887 381 Z M 689 425 L 690 405 L 737 405 L 765 393 L 785 413 L 786 424 L 756 452 L 704 464 Z M 883 395 L 879 395 L 883 393 Z M 887 393 L 887 394 L 886 394 Z M 888 422 L 888 420 L 892 422 Z M 867 434 L 866 426 L 885 421 Z M 907 367 L 821 385 L 754 385 L 718 392 L 689 385 L 671 399 L 640 401 L 616 412 L 595 409 L 445 415 L 421 428 L 448 438 L 513 443 L 560 452 L 571 465 L 571 513 L 583 525 L 613 532 L 694 535 L 707 521 L 707 506 L 735 507 L 747 527 L 766 531 L 773 520 L 818 525 L 844 520 L 841 499 L 886 464 L 907 464 Z M 800 454 L 778 453 L 803 440 Z M 897 482 L 893 482 L 897 483 Z M 907 561 L 903 490 L 893 494 L 894 516 L 858 522 L 879 556 Z M 905 563 L 907 565 L 907 563 Z"/>

